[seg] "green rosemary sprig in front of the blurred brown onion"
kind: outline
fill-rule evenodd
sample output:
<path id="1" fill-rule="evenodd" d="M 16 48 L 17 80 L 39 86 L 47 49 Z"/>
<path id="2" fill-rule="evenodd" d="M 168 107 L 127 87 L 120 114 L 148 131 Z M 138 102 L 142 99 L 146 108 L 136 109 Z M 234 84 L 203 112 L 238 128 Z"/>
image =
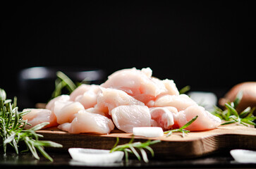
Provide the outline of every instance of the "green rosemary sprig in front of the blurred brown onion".
<path id="1" fill-rule="evenodd" d="M 221 125 L 228 125 L 231 123 L 238 123 L 245 126 L 256 125 L 253 122 L 253 120 L 256 120 L 256 117 L 253 115 L 253 112 L 255 111 L 255 107 L 245 108 L 245 110 L 241 111 L 240 113 L 236 111 L 236 108 L 242 98 L 243 98 L 243 92 L 238 92 L 238 94 L 236 95 L 236 99 L 233 102 L 225 104 L 226 109 L 224 111 L 217 106 L 215 107 L 215 110 L 212 112 L 212 114 L 221 118 L 221 120 L 226 121 Z"/>

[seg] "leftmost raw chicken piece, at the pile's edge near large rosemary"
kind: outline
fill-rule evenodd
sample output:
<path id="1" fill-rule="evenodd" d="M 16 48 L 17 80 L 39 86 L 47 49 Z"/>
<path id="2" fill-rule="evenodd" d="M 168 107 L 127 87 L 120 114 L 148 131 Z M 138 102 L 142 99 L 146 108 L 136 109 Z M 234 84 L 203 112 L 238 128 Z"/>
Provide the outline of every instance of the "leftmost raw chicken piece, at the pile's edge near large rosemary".
<path id="1" fill-rule="evenodd" d="M 44 128 L 58 125 L 56 123 L 56 116 L 50 110 L 44 108 L 26 108 L 23 111 L 30 111 L 30 113 L 23 115 L 23 120 L 28 120 L 28 123 L 31 124 L 31 126 L 26 125 L 25 129 L 30 129 L 44 122 L 49 122 L 49 125 L 44 126 Z"/>

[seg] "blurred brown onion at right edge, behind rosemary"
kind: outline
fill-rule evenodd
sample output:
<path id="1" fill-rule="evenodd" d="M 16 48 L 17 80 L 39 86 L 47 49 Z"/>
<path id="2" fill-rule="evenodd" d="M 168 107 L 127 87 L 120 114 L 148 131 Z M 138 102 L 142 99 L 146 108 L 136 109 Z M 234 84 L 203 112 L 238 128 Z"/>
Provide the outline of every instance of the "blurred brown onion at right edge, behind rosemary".
<path id="1" fill-rule="evenodd" d="M 226 103 L 234 101 L 238 92 L 243 92 L 240 104 L 236 108 L 238 112 L 245 110 L 249 106 L 251 108 L 256 106 L 256 82 L 236 84 L 225 94 L 224 98 L 219 99 L 219 105 L 225 106 Z"/>

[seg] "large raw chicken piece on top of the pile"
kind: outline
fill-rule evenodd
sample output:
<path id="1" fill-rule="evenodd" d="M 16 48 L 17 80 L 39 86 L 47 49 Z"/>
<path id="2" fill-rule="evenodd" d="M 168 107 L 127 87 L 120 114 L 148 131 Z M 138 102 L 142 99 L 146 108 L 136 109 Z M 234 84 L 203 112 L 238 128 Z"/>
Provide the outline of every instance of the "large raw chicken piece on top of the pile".
<path id="1" fill-rule="evenodd" d="M 163 82 L 152 77 L 150 68 L 118 70 L 110 75 L 101 86 L 121 89 L 145 104 L 159 94 L 178 94 L 178 89 L 173 81 L 165 80 Z"/>

